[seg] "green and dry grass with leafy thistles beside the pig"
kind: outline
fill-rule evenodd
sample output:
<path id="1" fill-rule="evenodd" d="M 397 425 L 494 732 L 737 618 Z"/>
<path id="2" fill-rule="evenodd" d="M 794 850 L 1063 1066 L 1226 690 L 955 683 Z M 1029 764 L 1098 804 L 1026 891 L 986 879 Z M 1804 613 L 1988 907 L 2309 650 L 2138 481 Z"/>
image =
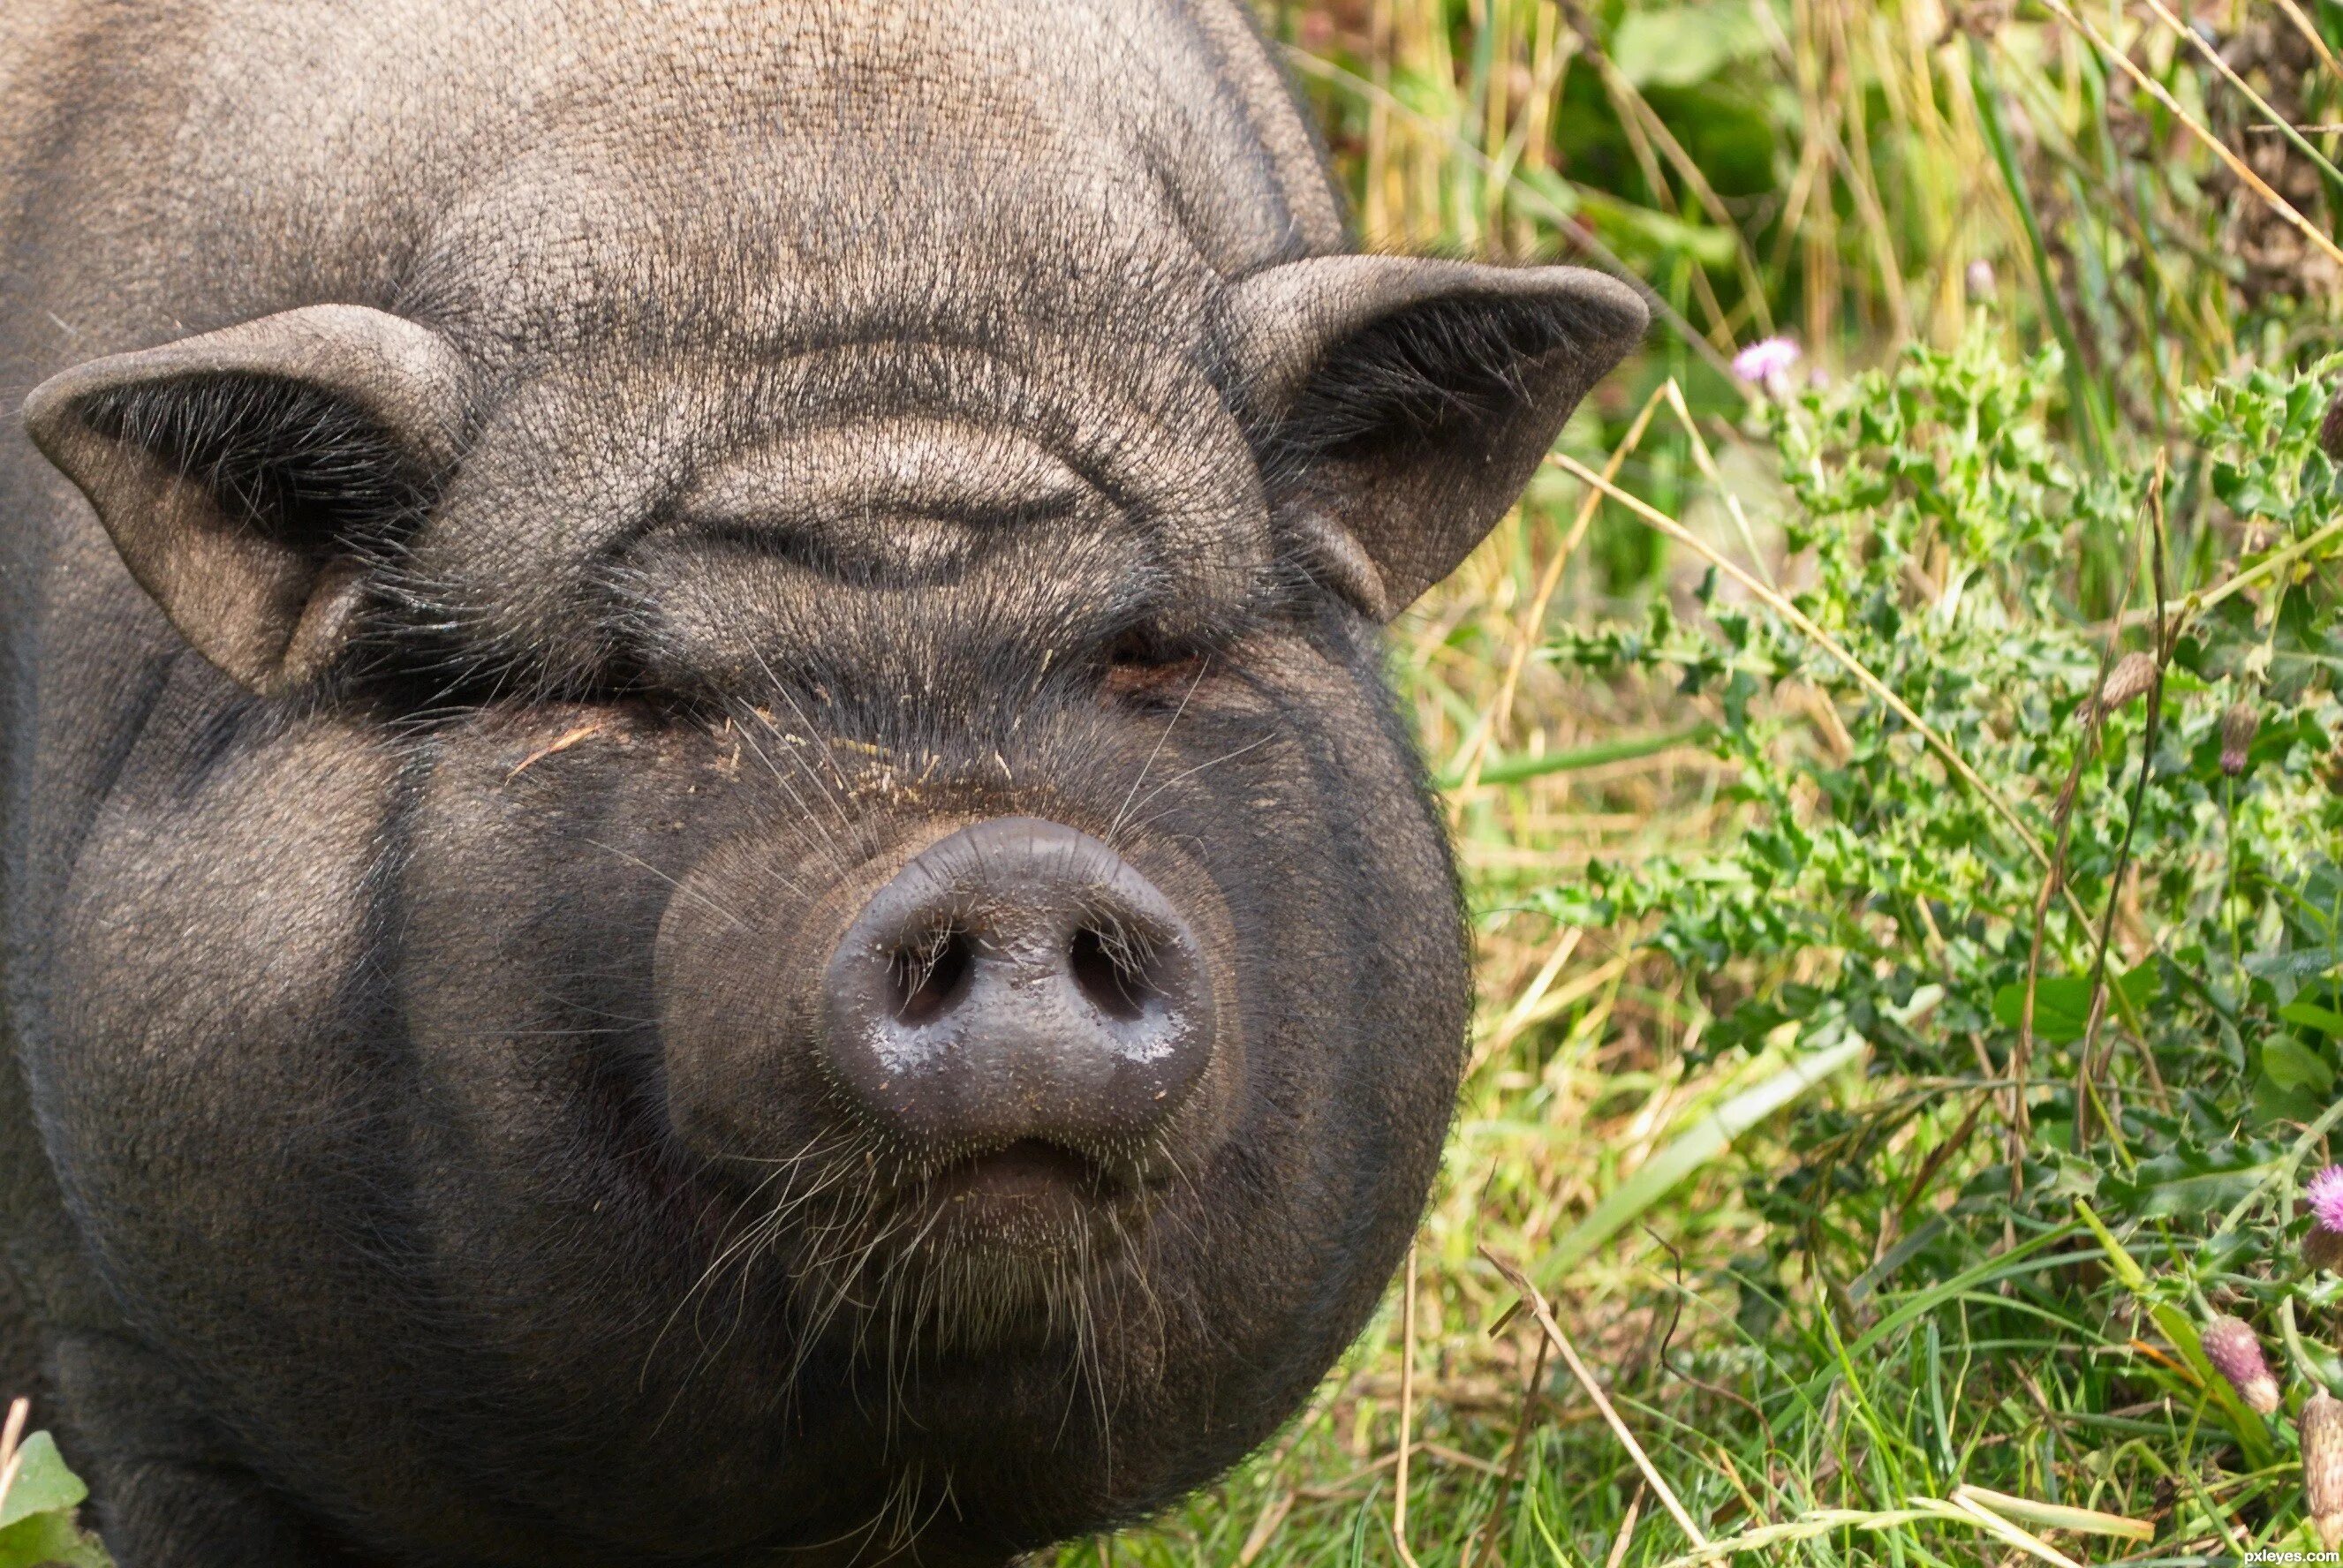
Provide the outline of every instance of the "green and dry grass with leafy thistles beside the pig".
<path id="1" fill-rule="evenodd" d="M 1612 265 L 1661 328 L 1394 635 L 1481 982 L 1410 1268 L 1061 1568 L 2315 1547 L 2343 176 L 2291 127 L 2343 7 L 1263 14 L 1368 244 Z M 1821 389 L 1729 375 L 1776 333 Z"/>

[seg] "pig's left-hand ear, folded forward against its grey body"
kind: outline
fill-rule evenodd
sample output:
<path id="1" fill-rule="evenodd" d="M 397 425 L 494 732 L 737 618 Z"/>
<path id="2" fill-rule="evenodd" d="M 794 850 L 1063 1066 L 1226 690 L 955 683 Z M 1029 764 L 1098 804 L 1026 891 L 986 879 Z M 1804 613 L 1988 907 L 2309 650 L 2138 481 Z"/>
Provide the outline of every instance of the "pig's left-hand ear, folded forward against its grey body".
<path id="1" fill-rule="evenodd" d="M 75 366 L 23 420 L 187 642 L 272 694 L 340 652 L 358 563 L 455 466 L 466 387 L 438 333 L 312 305 Z"/>

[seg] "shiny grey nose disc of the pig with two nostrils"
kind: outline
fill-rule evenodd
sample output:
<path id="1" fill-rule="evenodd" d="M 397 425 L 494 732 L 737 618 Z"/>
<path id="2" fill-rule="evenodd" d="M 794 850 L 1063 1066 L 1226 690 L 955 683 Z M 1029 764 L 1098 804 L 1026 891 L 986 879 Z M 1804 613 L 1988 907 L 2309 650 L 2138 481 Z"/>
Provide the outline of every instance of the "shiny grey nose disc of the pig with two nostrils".
<path id="1" fill-rule="evenodd" d="M 911 858 L 836 945 L 820 1008 L 858 1111 L 930 1155 L 1132 1148 L 1214 1050 L 1181 912 L 1104 841 L 1029 816 Z"/>

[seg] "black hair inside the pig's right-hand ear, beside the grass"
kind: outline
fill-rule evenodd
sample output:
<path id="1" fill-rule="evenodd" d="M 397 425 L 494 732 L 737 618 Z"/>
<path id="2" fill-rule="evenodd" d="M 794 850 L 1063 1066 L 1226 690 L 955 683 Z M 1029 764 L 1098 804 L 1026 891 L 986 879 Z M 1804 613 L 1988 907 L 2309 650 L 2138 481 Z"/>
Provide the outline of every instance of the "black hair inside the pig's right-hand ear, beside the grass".
<path id="1" fill-rule="evenodd" d="M 1272 469 L 1403 455 L 1502 424 L 1535 401 L 1532 366 L 1577 340 L 1551 300 L 1427 300 L 1382 316 L 1319 361 L 1272 436 Z"/>

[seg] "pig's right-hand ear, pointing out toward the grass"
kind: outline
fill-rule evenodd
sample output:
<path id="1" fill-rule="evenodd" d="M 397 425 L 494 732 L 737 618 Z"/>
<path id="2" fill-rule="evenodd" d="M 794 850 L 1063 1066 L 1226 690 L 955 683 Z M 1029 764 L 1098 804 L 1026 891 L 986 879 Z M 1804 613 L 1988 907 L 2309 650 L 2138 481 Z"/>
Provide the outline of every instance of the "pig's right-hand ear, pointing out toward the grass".
<path id="1" fill-rule="evenodd" d="M 1582 267 L 1326 255 L 1235 284 L 1221 345 L 1277 530 L 1387 621 L 1497 525 L 1647 321 Z"/>

